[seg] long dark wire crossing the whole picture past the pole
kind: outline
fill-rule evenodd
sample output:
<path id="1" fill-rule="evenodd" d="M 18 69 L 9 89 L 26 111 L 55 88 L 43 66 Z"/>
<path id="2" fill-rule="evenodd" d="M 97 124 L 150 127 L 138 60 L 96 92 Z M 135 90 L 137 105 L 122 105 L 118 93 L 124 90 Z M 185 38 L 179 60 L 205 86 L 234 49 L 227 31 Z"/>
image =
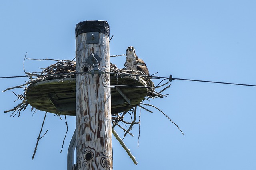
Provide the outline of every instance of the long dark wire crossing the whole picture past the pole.
<path id="1" fill-rule="evenodd" d="M 125 74 L 125 73 L 118 73 L 118 72 L 105 72 L 107 74 L 118 74 L 123 76 L 140 76 L 140 77 L 148 77 L 148 78 L 164 78 L 165 80 L 184 80 L 184 81 L 194 81 L 194 82 L 208 82 L 208 83 L 217 83 L 217 84 L 230 84 L 230 85 L 238 85 L 238 86 L 253 86 L 253 84 L 240 84 L 240 83 L 229 83 L 229 82 L 216 82 L 216 81 L 206 81 L 206 80 L 194 80 L 194 79 L 185 79 L 185 78 L 172 78 L 172 75 L 169 77 L 161 77 L 161 76 L 146 76 L 146 75 L 138 75 L 138 74 Z M 86 72 L 70 72 L 70 73 L 58 73 L 58 74 L 44 74 L 44 75 L 25 75 L 25 76 L 6 76 L 0 77 L 0 79 L 4 78 L 22 78 L 22 77 L 41 77 L 41 76 L 66 76 L 66 75 L 74 75 L 74 74 L 86 74 Z"/>

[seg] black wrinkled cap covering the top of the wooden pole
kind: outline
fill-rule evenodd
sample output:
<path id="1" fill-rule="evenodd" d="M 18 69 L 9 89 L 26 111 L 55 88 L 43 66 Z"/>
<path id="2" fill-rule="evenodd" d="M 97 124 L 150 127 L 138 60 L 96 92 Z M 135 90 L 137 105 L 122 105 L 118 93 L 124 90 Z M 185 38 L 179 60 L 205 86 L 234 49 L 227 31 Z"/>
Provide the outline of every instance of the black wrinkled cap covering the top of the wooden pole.
<path id="1" fill-rule="evenodd" d="M 99 32 L 109 36 L 109 25 L 107 21 L 89 20 L 76 24 L 76 37 L 82 33 Z"/>

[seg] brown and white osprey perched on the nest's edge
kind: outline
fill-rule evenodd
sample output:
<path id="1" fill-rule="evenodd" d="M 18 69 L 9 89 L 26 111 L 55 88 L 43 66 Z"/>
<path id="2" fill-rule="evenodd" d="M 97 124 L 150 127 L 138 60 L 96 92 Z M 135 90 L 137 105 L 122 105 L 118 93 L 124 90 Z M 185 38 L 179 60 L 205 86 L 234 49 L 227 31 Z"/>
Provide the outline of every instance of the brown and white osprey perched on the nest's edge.
<path id="1" fill-rule="evenodd" d="M 127 70 L 141 71 L 145 75 L 149 76 L 146 63 L 142 59 L 138 58 L 135 53 L 135 49 L 132 46 L 126 49 L 126 62 L 124 63 L 124 66 Z"/>

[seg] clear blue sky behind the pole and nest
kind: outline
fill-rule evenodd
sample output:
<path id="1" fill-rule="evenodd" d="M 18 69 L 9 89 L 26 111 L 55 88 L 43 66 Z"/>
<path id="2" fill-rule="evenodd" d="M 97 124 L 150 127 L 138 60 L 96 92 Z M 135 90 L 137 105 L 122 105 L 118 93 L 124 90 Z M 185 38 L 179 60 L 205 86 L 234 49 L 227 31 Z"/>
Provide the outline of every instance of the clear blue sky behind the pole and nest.
<path id="1" fill-rule="evenodd" d="M 256 84 L 256 2 L 254 0 L 32 1 L 4 0 L 0 5 L 0 76 L 24 75 L 23 59 L 73 59 L 75 26 L 85 20 L 110 24 L 110 55 L 134 46 L 150 73 Z M 119 68 L 125 57 L 110 59 Z M 51 61 L 25 62 L 27 72 Z M 27 78 L 0 79 L 0 90 Z M 157 81 L 156 81 L 157 82 Z M 13 90 L 19 94 L 22 89 Z M 113 138 L 114 170 L 254 170 L 256 169 L 256 87 L 176 80 L 170 95 L 149 102 L 164 111 L 142 112 L 138 127 L 124 140 L 134 165 Z M 0 164 L 3 170 L 66 169 L 75 117 L 65 121 L 48 113 L 49 129 L 32 154 L 44 112 L 30 108 L 20 117 L 4 111 L 16 106 L 11 90 L 0 94 Z M 63 117 L 64 118 L 64 117 Z M 118 131 L 120 135 L 122 131 Z"/>

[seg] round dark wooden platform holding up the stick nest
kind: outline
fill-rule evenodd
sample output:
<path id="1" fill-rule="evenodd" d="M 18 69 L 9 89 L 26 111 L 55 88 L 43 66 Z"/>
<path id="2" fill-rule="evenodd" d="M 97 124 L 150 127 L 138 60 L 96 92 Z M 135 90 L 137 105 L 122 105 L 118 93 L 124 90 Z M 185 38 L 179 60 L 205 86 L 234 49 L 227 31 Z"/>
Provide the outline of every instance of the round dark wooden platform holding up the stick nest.
<path id="1" fill-rule="evenodd" d="M 139 76 L 111 74 L 110 77 L 111 86 L 118 85 L 111 88 L 112 115 L 132 109 L 148 94 L 145 88 L 148 84 Z M 75 116 L 76 78 L 72 75 L 33 82 L 26 90 L 26 100 L 38 110 Z"/>

